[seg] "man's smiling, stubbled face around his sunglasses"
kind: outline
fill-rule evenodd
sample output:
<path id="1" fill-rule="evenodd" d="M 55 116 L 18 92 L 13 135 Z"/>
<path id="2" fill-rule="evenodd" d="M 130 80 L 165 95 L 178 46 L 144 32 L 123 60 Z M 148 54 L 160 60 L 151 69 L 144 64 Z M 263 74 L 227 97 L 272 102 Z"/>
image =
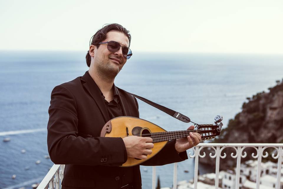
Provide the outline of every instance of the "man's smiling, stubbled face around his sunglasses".
<path id="1" fill-rule="evenodd" d="M 102 42 L 106 41 L 116 41 L 122 44 L 121 46 L 129 47 L 128 37 L 121 32 L 108 32 L 106 39 Z M 90 53 L 92 53 L 91 49 Z M 107 44 L 100 44 L 99 48 L 93 47 L 93 62 L 91 62 L 91 66 L 94 66 L 94 69 L 96 69 L 101 76 L 115 78 L 126 61 L 127 59 L 124 58 L 122 54 L 122 48 L 117 52 L 111 52 L 107 49 Z"/>

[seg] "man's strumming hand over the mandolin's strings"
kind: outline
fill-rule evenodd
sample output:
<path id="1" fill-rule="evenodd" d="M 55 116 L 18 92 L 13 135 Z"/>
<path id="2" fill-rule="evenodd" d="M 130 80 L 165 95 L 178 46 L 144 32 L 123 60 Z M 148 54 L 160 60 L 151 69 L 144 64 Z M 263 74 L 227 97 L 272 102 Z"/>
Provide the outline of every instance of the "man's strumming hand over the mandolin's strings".
<path id="1" fill-rule="evenodd" d="M 128 157 L 147 159 L 148 154 L 152 154 L 152 138 L 141 136 L 127 136 L 123 138 Z"/>

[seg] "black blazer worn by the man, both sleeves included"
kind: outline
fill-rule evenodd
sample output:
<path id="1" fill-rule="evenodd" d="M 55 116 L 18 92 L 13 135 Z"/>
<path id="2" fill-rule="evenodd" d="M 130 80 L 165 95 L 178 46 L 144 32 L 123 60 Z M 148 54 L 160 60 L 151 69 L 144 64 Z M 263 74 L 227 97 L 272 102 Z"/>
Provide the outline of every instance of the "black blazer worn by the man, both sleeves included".
<path id="1" fill-rule="evenodd" d="M 136 98 L 119 89 L 118 94 L 123 114 L 138 118 Z M 110 118 L 88 71 L 53 89 L 48 112 L 48 152 L 52 162 L 65 164 L 62 188 L 120 188 L 117 175 L 124 167 L 118 166 L 127 160 L 126 147 L 121 138 L 99 137 Z M 187 153 L 177 154 L 172 140 L 142 165 L 164 165 L 185 159 Z M 141 188 L 139 165 L 132 169 L 135 188 Z"/>

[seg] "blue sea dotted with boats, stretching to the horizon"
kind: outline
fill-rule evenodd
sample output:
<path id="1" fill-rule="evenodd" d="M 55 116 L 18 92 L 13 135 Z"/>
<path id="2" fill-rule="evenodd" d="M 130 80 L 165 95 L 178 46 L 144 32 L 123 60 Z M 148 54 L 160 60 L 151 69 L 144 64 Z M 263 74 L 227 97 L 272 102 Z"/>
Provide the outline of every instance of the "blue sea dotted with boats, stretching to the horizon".
<path id="1" fill-rule="evenodd" d="M 31 188 L 52 167 L 45 158 L 50 94 L 55 86 L 88 70 L 85 53 L 0 51 L 0 188 Z M 220 114 L 225 127 L 241 111 L 246 97 L 268 92 L 282 78 L 283 55 L 138 52 L 126 62 L 115 84 L 198 124 L 214 123 Z M 140 118 L 167 131 L 193 125 L 138 102 Z M 10 141 L 4 142 L 5 138 Z M 172 187 L 173 168 L 173 164 L 156 167 L 161 187 Z M 214 168 L 199 165 L 199 174 L 209 172 Z M 141 166 L 141 176 L 142 188 L 151 188 L 152 167 Z M 193 176 L 193 158 L 178 163 L 178 182 Z"/>

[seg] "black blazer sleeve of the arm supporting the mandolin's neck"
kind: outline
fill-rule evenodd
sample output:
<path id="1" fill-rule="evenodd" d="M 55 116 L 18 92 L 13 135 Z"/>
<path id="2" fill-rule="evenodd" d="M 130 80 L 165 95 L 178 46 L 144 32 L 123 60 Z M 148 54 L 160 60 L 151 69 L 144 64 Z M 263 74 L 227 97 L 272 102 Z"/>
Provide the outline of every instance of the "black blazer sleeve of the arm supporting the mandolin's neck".
<path id="1" fill-rule="evenodd" d="M 137 109 L 139 109 L 139 104 L 135 97 L 134 99 L 136 102 L 136 107 Z M 139 118 L 139 111 L 138 111 L 138 118 Z M 178 154 L 178 152 L 175 149 L 175 142 L 176 139 L 168 141 L 167 144 L 154 157 L 143 162 L 141 165 L 158 166 L 158 165 L 165 165 L 175 162 L 181 162 L 188 159 L 187 151 L 183 151 Z"/>

